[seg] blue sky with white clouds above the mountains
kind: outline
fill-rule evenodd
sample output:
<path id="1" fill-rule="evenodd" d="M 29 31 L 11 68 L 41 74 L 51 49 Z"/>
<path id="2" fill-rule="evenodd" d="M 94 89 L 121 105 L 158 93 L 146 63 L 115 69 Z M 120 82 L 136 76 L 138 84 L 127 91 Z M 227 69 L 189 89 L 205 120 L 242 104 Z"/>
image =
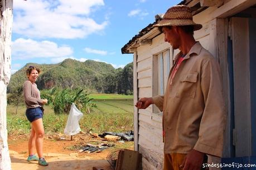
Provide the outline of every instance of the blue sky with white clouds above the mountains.
<path id="1" fill-rule="evenodd" d="M 12 74 L 66 58 L 124 67 L 121 48 L 177 0 L 13 0 Z"/>

